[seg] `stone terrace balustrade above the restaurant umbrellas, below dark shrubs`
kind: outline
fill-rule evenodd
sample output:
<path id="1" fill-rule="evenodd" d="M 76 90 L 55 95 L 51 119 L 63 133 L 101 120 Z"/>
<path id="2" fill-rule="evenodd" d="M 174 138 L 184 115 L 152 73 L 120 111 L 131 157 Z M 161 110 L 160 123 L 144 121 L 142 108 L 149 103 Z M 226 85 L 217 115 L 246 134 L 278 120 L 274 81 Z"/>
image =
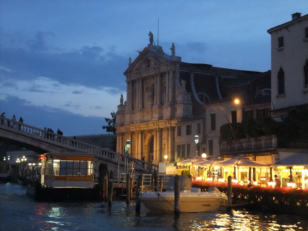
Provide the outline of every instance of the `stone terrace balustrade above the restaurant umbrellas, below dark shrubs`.
<path id="1" fill-rule="evenodd" d="M 277 138 L 272 136 L 260 136 L 257 138 L 232 140 L 230 143 L 223 142 L 220 145 L 220 152 L 245 152 L 273 150 L 277 148 Z"/>

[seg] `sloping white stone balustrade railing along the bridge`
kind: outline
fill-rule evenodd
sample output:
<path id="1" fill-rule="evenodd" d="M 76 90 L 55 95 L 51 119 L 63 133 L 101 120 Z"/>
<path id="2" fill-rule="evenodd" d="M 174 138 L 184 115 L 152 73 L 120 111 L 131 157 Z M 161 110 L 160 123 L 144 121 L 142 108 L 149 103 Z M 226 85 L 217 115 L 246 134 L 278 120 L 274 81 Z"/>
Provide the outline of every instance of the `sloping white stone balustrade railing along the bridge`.
<path id="1" fill-rule="evenodd" d="M 103 157 L 103 159 L 125 165 L 126 163 L 134 162 L 135 168 L 143 172 L 158 171 L 158 165 L 152 164 L 143 160 L 139 160 L 133 157 L 128 157 L 124 154 L 113 152 L 108 149 L 104 149 L 95 145 L 87 144 L 79 140 L 75 140 L 70 137 L 62 136 L 54 132 L 47 131 L 45 129 L 36 128 L 28 124 L 24 124 L 18 121 L 10 120 L 5 117 L 1 117 L 0 126 L 3 129 L 11 130 L 13 132 L 33 137 L 37 140 L 44 140 L 48 143 L 54 143 L 56 145 L 66 147 L 73 151 L 93 153 L 97 156 Z"/>

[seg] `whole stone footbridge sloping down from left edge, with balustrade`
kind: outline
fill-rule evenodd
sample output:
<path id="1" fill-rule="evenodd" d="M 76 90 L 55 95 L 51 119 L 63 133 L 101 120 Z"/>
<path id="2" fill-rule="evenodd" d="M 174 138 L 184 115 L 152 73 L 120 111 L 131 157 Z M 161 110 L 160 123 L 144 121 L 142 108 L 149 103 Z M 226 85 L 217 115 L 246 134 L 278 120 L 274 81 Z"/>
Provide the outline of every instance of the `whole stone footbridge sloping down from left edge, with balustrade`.
<path id="1" fill-rule="evenodd" d="M 113 152 L 95 145 L 87 144 L 70 137 L 62 136 L 28 124 L 19 123 L 0 117 L 0 137 L 15 144 L 23 144 L 26 148 L 38 153 L 77 152 L 94 155 L 94 172 L 98 174 L 99 164 L 107 164 L 108 170 L 124 173 L 128 164 L 134 163 L 134 173 L 148 174 L 158 170 L 158 165 L 139 160 L 127 155 Z"/>

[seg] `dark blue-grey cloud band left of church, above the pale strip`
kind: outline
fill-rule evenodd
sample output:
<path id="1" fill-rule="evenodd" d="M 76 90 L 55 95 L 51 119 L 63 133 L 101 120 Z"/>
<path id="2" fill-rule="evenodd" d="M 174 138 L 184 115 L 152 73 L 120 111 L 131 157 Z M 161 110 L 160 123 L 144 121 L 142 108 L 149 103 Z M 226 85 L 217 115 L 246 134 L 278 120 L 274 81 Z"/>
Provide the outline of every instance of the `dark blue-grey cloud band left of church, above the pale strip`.
<path id="1" fill-rule="evenodd" d="M 116 46 L 83 46 L 62 51 L 47 44 L 48 33 L 38 32 L 33 39 L 11 35 L 12 44 L 4 39 L 0 47 L 0 71 L 16 79 L 28 80 L 45 76 L 59 83 L 77 83 L 87 87 L 100 86 L 126 89 L 123 75 L 128 56 L 119 54 Z M 64 50 L 64 51 L 63 51 Z"/>

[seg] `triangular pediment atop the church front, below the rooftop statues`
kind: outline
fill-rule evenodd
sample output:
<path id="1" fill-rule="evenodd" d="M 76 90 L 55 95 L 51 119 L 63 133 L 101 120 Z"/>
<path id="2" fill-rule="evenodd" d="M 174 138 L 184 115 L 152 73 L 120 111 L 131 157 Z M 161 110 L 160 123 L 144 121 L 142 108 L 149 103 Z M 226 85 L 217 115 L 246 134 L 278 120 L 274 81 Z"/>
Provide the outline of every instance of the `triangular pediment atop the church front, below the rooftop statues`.
<path id="1" fill-rule="evenodd" d="M 139 53 L 138 57 L 128 67 L 128 69 L 124 72 L 124 75 L 135 71 L 141 71 L 146 68 L 151 68 L 166 62 L 170 62 L 170 59 L 167 59 L 165 55 L 161 55 L 145 47 L 143 51 Z"/>

